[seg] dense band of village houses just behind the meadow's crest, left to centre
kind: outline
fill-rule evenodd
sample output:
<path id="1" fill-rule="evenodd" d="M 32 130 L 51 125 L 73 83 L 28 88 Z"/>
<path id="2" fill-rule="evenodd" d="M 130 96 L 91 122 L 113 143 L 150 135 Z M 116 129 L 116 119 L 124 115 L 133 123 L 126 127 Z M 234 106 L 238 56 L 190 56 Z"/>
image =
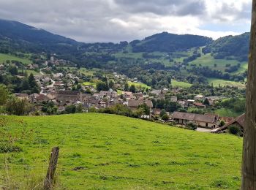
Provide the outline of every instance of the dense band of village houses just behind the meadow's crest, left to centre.
<path id="1" fill-rule="evenodd" d="M 123 91 L 122 94 L 118 95 L 117 92 L 112 89 L 109 91 L 100 91 L 96 94 L 83 94 L 82 92 L 70 90 L 56 90 L 47 94 L 15 95 L 19 98 L 29 99 L 29 101 L 34 104 L 52 101 L 59 107 L 59 112 L 63 111 L 66 106 L 71 104 L 82 104 L 84 110 L 89 110 L 91 107 L 96 109 L 111 107 L 116 104 L 125 104 L 132 110 L 135 110 L 140 104 L 144 103 L 148 105 L 150 110 L 153 108 L 152 101 L 144 99 L 142 93 L 132 94 L 132 92 Z M 41 106 L 39 105 L 37 108 L 40 110 Z"/>

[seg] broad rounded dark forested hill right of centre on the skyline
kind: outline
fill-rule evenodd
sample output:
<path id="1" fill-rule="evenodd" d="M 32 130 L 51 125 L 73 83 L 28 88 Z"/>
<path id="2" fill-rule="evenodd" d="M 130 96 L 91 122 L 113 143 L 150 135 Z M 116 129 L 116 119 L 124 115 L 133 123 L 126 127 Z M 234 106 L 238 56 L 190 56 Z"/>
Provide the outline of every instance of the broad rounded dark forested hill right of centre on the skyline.
<path id="1" fill-rule="evenodd" d="M 154 34 L 151 37 L 146 37 L 142 41 L 135 40 L 131 42 L 133 52 L 175 52 L 189 50 L 192 47 L 201 47 L 208 45 L 213 40 L 208 37 L 197 35 L 178 35 L 162 32 Z"/>

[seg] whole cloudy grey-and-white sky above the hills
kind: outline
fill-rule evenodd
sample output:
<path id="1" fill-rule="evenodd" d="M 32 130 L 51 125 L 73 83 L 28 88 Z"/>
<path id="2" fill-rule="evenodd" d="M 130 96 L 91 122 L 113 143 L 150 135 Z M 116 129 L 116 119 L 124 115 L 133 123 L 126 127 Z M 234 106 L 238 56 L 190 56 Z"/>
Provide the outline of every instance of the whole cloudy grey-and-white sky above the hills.
<path id="1" fill-rule="evenodd" d="M 0 0 L 0 18 L 80 42 L 143 39 L 168 31 L 217 39 L 249 31 L 252 0 Z"/>

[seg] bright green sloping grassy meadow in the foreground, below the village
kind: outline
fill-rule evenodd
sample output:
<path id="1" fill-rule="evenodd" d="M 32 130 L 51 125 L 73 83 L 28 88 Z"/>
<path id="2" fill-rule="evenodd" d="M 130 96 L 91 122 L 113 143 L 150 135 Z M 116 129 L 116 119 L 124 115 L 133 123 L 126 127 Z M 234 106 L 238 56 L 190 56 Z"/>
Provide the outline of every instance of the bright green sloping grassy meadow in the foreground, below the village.
<path id="1" fill-rule="evenodd" d="M 31 135 L 17 142 L 20 153 L 0 153 L 0 185 L 7 189 L 38 188 L 56 145 L 56 189 L 239 189 L 241 183 L 241 137 L 96 113 L 12 118 L 26 122 Z M 18 134 L 14 124 L 7 129 Z"/>

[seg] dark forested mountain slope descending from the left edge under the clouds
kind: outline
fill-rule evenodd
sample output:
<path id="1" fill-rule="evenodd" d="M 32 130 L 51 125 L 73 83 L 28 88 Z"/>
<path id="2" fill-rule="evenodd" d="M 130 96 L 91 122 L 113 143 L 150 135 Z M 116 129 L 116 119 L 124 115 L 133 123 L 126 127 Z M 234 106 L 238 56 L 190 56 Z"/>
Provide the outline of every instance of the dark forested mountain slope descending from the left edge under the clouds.
<path id="1" fill-rule="evenodd" d="M 74 39 L 61 37 L 17 21 L 0 19 L 0 50 L 2 53 L 10 50 L 32 53 L 58 52 L 63 50 L 63 47 L 77 49 L 78 45 L 80 42 Z"/>

